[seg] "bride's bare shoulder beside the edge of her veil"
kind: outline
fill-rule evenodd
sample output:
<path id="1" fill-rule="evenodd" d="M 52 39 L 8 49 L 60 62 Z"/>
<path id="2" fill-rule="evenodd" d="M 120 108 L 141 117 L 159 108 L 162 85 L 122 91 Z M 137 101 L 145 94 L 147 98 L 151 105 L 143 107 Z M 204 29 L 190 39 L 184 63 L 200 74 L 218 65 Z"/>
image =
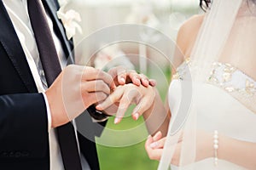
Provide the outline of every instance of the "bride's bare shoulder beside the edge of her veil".
<path id="1" fill-rule="evenodd" d="M 177 33 L 177 46 L 185 55 L 189 57 L 190 52 L 194 46 L 195 39 L 201 28 L 202 21 L 204 20 L 204 14 L 196 14 L 186 20 L 180 27 Z"/>

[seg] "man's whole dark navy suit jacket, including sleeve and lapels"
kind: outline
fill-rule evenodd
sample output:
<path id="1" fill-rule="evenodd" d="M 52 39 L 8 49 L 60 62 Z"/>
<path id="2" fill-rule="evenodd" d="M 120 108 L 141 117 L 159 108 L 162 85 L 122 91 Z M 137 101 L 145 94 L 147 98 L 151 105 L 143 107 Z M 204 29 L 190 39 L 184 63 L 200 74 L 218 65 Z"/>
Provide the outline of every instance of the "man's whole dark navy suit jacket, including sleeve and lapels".
<path id="1" fill-rule="evenodd" d="M 70 62 L 73 42 L 68 41 L 61 21 L 55 14 L 55 0 L 43 0 L 54 23 L 55 34 Z M 88 135 L 79 133 L 80 150 L 91 169 L 99 169 L 96 145 L 91 142 L 102 128 L 91 122 L 88 113 L 79 116 Z M 105 122 L 101 123 L 103 126 Z M 96 129 L 96 130 L 95 130 Z M 15 28 L 0 0 L 0 169 L 48 170 L 49 135 L 43 94 L 38 94 L 32 72 L 20 45 Z"/>

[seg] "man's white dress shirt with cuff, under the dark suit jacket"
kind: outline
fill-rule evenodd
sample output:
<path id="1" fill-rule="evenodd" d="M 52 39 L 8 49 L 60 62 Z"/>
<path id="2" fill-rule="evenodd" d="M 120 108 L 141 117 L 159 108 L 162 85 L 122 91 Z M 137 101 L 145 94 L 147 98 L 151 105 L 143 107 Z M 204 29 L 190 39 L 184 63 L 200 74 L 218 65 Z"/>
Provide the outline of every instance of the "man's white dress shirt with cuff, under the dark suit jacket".
<path id="1" fill-rule="evenodd" d="M 39 58 L 37 43 L 32 31 L 32 26 L 30 23 L 28 11 L 27 11 L 27 1 L 26 0 L 3 0 L 3 4 L 7 9 L 10 19 L 15 27 L 15 31 L 19 37 L 20 44 L 26 55 L 26 60 L 32 71 L 32 77 L 35 80 L 36 86 L 38 88 L 38 93 L 44 94 L 45 89 L 47 89 L 47 84 L 44 77 L 44 70 Z M 52 37 L 55 42 L 55 48 L 61 62 L 61 67 L 67 65 L 67 59 L 61 47 L 61 42 L 56 37 L 53 31 L 53 23 L 47 14 L 47 20 L 49 23 L 49 29 L 52 33 Z M 61 158 L 61 150 L 57 142 L 55 129 L 51 128 L 51 116 L 49 111 L 49 104 L 44 94 L 44 99 L 47 107 L 48 122 L 49 122 L 49 156 L 50 156 L 50 170 L 62 170 L 63 162 Z M 75 127 L 75 126 L 74 126 Z M 84 156 L 81 159 L 83 169 L 90 169 L 88 163 L 85 161 Z"/>

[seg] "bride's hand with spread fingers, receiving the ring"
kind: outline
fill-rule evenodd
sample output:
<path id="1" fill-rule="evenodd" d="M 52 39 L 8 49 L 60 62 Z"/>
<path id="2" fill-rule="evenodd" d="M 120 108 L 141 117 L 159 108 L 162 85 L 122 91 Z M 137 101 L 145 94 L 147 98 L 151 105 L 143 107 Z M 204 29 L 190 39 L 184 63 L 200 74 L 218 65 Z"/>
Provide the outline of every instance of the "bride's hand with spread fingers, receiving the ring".
<path id="1" fill-rule="evenodd" d="M 108 109 L 111 105 L 119 103 L 118 111 L 115 113 L 114 123 L 117 124 L 121 121 L 125 115 L 125 111 L 131 104 L 136 104 L 137 106 L 132 111 L 132 117 L 137 120 L 145 111 L 154 105 L 155 91 L 152 86 L 148 88 L 144 86 L 137 86 L 132 83 L 119 85 L 114 89 L 113 93 L 108 96 L 100 105 L 96 106 L 96 109 L 103 111 Z"/>

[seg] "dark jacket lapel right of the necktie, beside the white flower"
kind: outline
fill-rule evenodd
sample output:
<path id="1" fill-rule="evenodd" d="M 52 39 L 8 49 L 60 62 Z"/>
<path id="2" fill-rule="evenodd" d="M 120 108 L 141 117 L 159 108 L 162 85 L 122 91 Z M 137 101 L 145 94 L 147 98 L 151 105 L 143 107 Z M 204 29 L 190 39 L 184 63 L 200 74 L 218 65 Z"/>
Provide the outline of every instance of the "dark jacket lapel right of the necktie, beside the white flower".
<path id="1" fill-rule="evenodd" d="M 74 63 L 72 42 L 67 40 L 66 31 L 56 14 L 56 11 L 60 8 L 59 4 L 55 0 L 44 0 L 43 3 L 44 8 L 48 10 L 50 17 L 53 20 L 55 34 L 61 39 L 62 48 L 64 49 L 67 59 L 69 59 L 68 63 Z"/>

